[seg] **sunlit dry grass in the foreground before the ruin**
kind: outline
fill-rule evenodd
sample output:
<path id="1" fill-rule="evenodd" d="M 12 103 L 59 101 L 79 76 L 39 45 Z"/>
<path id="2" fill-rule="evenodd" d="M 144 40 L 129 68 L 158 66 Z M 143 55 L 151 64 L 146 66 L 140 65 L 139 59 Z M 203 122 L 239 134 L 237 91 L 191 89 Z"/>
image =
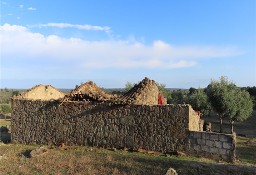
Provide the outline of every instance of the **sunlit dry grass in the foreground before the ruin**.
<path id="1" fill-rule="evenodd" d="M 56 174 L 56 175 L 130 175 L 165 174 L 173 167 L 179 174 L 225 174 L 236 172 L 236 166 L 194 157 L 165 157 L 127 151 L 109 151 L 92 147 L 47 147 L 42 154 L 31 150 L 38 145 L 1 144 L 0 174 Z M 223 171 L 225 166 L 225 171 Z M 243 172 L 256 171 L 244 166 Z M 243 168 L 244 168 L 243 167 Z M 235 170 L 234 170 L 235 168 Z M 248 169 L 249 168 L 249 169 Z M 235 174 L 235 173 L 234 173 Z"/>

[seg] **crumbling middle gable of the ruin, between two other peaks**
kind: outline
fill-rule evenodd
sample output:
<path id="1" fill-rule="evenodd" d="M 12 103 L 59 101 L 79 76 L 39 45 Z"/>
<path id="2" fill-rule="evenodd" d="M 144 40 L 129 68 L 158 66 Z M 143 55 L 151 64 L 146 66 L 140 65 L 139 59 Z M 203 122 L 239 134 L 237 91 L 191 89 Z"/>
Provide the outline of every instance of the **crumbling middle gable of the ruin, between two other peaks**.
<path id="1" fill-rule="evenodd" d="M 72 90 L 63 101 L 105 102 L 114 100 L 115 97 L 103 91 L 94 82 L 88 81 Z"/>

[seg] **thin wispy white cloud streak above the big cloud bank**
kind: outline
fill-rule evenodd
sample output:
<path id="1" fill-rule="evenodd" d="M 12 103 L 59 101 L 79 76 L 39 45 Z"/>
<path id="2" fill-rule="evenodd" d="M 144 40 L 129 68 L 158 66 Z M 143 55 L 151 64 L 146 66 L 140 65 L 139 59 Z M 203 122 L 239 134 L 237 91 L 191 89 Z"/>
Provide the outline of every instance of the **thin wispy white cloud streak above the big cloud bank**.
<path id="1" fill-rule="evenodd" d="M 105 31 L 109 32 L 110 27 L 108 26 L 94 26 L 94 25 L 79 25 L 79 24 L 69 24 L 69 23 L 47 23 L 47 24 L 39 24 L 34 25 L 32 27 L 57 27 L 57 28 L 75 28 L 78 30 L 94 30 L 94 31 Z"/>

